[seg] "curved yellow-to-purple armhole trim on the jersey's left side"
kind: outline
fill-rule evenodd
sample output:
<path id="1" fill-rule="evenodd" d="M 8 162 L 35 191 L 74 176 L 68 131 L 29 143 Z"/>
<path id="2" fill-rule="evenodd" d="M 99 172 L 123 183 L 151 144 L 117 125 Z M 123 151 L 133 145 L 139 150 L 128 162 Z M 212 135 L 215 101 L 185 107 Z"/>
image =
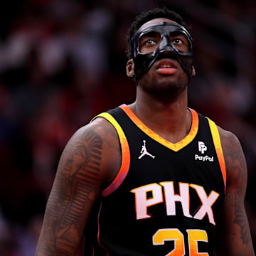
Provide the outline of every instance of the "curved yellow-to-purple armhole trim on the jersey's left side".
<path id="1" fill-rule="evenodd" d="M 121 146 L 121 155 L 122 155 L 121 156 L 121 167 L 119 169 L 117 176 L 114 178 L 114 181 L 112 181 L 112 183 L 110 183 L 110 185 L 102 191 L 102 196 L 106 197 L 106 196 L 109 196 L 114 191 L 116 191 L 117 188 L 119 188 L 119 186 L 124 181 L 124 178 L 126 178 L 128 171 L 129 171 L 131 156 L 130 156 L 129 144 L 127 142 L 127 138 L 124 134 L 124 131 L 122 130 L 122 128 L 116 121 L 116 119 L 114 119 L 114 117 L 112 117 L 111 114 L 104 112 L 104 113 L 98 114 L 96 117 L 94 117 L 91 120 L 91 122 L 94 119 L 96 119 L 97 117 L 103 117 L 103 118 L 107 119 L 107 121 L 110 122 L 110 124 L 113 125 L 114 129 L 116 129 L 116 131 L 117 131 L 120 146 Z"/>

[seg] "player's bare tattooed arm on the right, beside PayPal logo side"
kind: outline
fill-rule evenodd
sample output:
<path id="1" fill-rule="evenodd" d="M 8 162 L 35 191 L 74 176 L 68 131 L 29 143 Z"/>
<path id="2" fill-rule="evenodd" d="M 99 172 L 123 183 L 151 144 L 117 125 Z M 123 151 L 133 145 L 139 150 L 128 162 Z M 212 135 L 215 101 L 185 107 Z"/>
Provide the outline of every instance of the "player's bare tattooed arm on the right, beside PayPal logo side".
<path id="1" fill-rule="evenodd" d="M 227 169 L 227 190 L 221 242 L 216 255 L 252 256 L 255 253 L 244 204 L 247 186 L 245 156 L 234 134 L 220 128 L 219 131 Z"/>

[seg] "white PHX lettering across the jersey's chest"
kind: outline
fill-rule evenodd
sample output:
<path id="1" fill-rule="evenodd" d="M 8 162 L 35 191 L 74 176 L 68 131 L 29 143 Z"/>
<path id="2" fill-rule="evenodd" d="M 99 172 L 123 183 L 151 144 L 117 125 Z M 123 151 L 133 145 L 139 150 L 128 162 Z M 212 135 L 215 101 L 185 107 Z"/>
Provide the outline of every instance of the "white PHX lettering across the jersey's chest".
<path id="1" fill-rule="evenodd" d="M 147 210 L 149 206 L 154 206 L 159 203 L 166 204 L 166 215 L 176 215 L 176 202 L 180 202 L 183 210 L 183 215 L 187 218 L 195 218 L 202 220 L 206 214 L 209 222 L 215 225 L 212 206 L 217 200 L 219 193 L 211 191 L 207 196 L 203 186 L 188 183 L 178 183 L 179 194 L 174 192 L 174 181 L 165 181 L 158 183 L 151 183 L 146 186 L 134 188 L 131 192 L 135 194 L 136 204 L 136 218 L 137 220 L 151 218 Z M 196 190 L 198 198 L 201 200 L 201 207 L 194 216 L 190 213 L 190 193 L 189 188 Z M 148 193 L 151 193 L 149 196 Z"/>

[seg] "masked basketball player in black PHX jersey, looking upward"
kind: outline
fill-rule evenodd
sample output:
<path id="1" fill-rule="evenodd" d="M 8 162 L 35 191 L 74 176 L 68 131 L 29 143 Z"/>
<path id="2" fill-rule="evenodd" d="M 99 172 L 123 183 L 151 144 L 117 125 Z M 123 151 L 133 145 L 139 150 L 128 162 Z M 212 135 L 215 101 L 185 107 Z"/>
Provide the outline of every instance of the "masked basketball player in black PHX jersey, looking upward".
<path id="1" fill-rule="evenodd" d="M 181 16 L 138 16 L 127 53 L 136 101 L 68 142 L 36 255 L 75 255 L 82 243 L 84 255 L 255 255 L 240 143 L 187 106 L 196 72 Z"/>

